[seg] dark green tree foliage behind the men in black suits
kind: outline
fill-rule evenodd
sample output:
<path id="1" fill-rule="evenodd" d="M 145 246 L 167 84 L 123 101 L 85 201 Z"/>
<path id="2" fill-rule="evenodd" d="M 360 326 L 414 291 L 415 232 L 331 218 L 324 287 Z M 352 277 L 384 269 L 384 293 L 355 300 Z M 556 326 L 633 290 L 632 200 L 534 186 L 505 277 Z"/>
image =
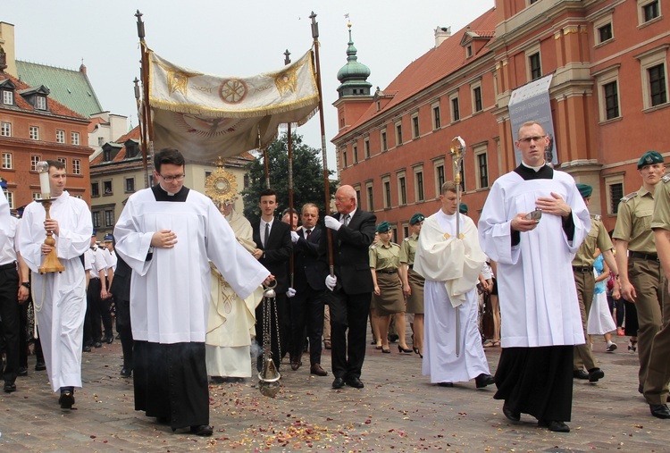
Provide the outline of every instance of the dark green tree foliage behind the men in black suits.
<path id="1" fill-rule="evenodd" d="M 314 203 L 319 206 L 319 216 L 325 214 L 325 189 L 323 188 L 323 166 L 321 150 L 308 147 L 303 143 L 301 135 L 292 134 L 293 147 L 293 208 L 299 213 L 301 206 Z M 281 134 L 267 147 L 270 168 L 270 187 L 277 192 L 277 211 L 281 212 L 289 207 L 289 135 Z M 264 157 L 247 165 L 249 172 L 249 187 L 242 191 L 244 197 L 244 214 L 249 222 L 256 222 L 260 218 L 258 197 L 265 189 Z M 332 171 L 329 171 L 332 174 Z M 331 196 L 335 195 L 338 181 L 331 180 Z"/>

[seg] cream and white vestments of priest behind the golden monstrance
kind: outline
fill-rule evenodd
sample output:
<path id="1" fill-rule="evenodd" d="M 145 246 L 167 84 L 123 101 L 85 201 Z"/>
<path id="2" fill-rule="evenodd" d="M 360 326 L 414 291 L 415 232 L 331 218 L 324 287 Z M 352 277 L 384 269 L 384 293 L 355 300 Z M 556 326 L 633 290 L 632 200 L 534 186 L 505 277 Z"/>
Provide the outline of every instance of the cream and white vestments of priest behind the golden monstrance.
<path id="1" fill-rule="evenodd" d="M 251 223 L 235 212 L 225 217 L 235 238 L 248 253 L 255 249 Z M 263 299 L 263 288 L 242 299 L 214 267 L 211 278 L 212 302 L 205 339 L 207 374 L 210 376 L 251 377 L 251 336 L 255 335 L 255 307 Z"/>

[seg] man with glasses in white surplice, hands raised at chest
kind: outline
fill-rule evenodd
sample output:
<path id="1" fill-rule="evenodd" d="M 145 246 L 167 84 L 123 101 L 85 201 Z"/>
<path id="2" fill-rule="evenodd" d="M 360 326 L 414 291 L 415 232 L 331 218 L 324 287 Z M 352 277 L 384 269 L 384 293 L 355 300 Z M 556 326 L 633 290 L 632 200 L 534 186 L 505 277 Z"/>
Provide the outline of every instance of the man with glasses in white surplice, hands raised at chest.
<path id="1" fill-rule="evenodd" d="M 546 164 L 548 145 L 540 124 L 521 126 L 515 147 L 523 162 L 493 184 L 479 235 L 498 263 L 503 349 L 494 398 L 505 400 L 510 420 L 530 414 L 540 426 L 569 432 L 573 347 L 584 342 L 571 263 L 590 215 L 572 176 Z M 539 219 L 529 214 L 536 209 Z"/>

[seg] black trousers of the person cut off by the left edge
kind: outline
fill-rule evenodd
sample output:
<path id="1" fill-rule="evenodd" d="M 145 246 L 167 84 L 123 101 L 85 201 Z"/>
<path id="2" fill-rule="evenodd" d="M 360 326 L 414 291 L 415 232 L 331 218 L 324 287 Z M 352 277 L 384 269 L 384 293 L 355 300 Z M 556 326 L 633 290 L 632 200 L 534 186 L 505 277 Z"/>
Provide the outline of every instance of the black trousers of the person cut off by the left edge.
<path id="1" fill-rule="evenodd" d="M 20 310 L 19 273 L 16 265 L 7 264 L 0 268 L 0 318 L 3 320 L 4 382 L 14 382 L 19 372 L 19 331 Z"/>

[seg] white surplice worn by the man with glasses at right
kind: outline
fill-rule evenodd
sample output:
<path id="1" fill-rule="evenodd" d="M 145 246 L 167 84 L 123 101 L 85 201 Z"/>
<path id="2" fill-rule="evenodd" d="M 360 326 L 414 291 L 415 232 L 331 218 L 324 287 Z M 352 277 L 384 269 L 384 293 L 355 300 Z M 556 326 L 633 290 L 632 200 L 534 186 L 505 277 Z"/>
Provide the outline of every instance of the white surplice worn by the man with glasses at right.
<path id="1" fill-rule="evenodd" d="M 562 218 L 542 215 L 537 228 L 520 233 L 512 246 L 510 222 L 535 209 L 539 197 L 557 193 L 572 208 L 574 238 Z M 523 180 L 509 172 L 496 180 L 479 221 L 480 243 L 498 263 L 498 298 L 503 348 L 576 345 L 584 342 L 571 263 L 590 230 L 590 215 L 572 176 Z"/>

